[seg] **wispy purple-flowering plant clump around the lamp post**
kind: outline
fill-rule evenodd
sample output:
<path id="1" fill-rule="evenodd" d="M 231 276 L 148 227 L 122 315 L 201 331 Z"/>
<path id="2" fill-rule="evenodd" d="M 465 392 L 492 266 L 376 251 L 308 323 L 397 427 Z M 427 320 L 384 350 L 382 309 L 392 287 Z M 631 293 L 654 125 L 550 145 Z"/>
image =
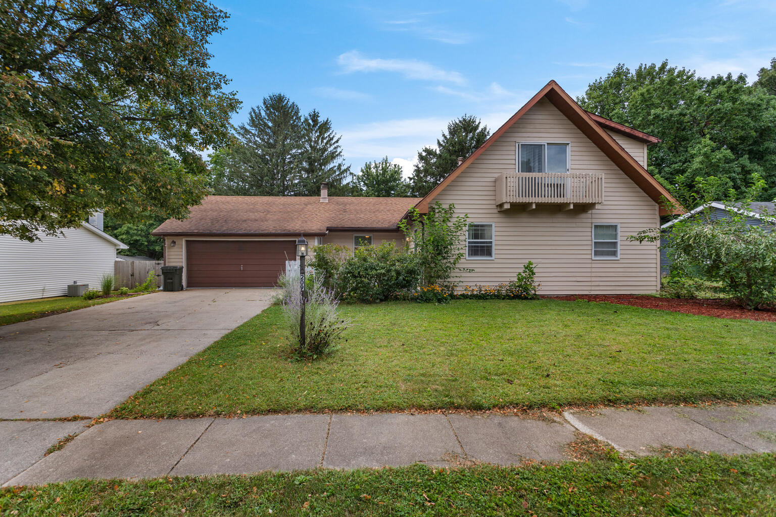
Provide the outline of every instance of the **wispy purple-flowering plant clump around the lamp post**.
<path id="1" fill-rule="evenodd" d="M 283 321 L 290 334 L 290 354 L 298 360 L 314 360 L 334 352 L 344 339 L 349 319 L 339 315 L 339 300 L 334 291 L 324 288 L 319 277 L 307 284 L 305 295 L 305 336 L 300 336 L 302 291 L 299 275 L 282 275 L 278 280 L 283 293 Z M 347 342 L 347 339 L 345 339 Z"/>

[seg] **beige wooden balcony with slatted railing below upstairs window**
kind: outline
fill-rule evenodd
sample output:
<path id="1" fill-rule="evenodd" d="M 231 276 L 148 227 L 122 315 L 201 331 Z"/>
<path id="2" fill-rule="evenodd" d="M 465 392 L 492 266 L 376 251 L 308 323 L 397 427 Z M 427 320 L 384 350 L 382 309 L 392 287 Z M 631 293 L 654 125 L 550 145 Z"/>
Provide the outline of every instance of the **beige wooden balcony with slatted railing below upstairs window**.
<path id="1" fill-rule="evenodd" d="M 604 174 L 581 172 L 509 172 L 496 177 L 496 208 L 558 205 L 590 210 L 604 202 Z"/>

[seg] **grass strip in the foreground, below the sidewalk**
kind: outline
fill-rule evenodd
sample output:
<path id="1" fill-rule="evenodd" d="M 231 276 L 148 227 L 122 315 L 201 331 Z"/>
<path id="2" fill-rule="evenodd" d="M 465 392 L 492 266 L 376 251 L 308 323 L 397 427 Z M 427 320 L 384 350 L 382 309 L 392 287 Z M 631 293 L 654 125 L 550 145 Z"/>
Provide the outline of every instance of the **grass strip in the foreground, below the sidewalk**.
<path id="1" fill-rule="evenodd" d="M 776 515 L 776 456 L 310 470 L 0 489 L 2 515 Z"/>

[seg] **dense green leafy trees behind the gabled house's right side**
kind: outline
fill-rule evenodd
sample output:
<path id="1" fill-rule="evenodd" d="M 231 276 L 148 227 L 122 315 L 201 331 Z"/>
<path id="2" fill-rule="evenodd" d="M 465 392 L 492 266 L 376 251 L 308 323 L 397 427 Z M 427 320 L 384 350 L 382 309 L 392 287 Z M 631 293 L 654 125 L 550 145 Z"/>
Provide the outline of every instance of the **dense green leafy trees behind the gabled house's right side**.
<path id="1" fill-rule="evenodd" d="M 770 84 L 767 70 L 760 74 Z M 714 177 L 740 193 L 759 174 L 767 188 L 758 200 L 776 197 L 776 96 L 747 85 L 743 74 L 700 78 L 667 61 L 636 71 L 618 64 L 577 102 L 663 140 L 650 146 L 648 170 L 678 191 Z M 687 197 L 680 201 L 695 206 Z"/>

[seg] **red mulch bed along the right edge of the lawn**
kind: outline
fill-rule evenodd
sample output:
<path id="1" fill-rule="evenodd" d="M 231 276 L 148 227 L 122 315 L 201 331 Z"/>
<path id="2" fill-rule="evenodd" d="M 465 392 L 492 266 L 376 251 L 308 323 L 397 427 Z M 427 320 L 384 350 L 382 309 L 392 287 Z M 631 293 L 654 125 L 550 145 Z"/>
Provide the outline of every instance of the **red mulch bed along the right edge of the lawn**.
<path id="1" fill-rule="evenodd" d="M 730 300 L 682 300 L 679 298 L 657 298 L 646 295 L 569 295 L 545 296 L 553 300 L 587 300 L 587 302 L 609 302 L 634 307 L 658 308 L 663 311 L 684 312 L 702 316 L 729 319 L 755 319 L 762 322 L 776 322 L 776 309 L 750 311 L 735 305 Z"/>

